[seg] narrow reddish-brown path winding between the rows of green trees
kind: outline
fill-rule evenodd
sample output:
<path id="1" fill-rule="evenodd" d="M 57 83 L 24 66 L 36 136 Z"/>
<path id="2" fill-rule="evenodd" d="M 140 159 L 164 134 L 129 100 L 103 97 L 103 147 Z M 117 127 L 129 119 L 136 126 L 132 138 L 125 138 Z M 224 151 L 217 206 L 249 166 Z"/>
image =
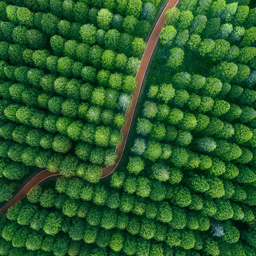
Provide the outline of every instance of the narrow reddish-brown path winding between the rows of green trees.
<path id="1" fill-rule="evenodd" d="M 127 137 L 129 136 L 130 131 L 131 131 L 131 125 L 132 125 L 133 117 L 135 114 L 138 97 L 141 93 L 142 83 L 145 78 L 147 67 L 148 67 L 148 64 L 150 63 L 150 60 L 151 60 L 153 51 L 155 49 L 155 46 L 157 44 L 161 30 L 164 26 L 164 23 L 166 22 L 166 19 L 164 17 L 165 12 L 168 9 L 176 6 L 178 1 L 179 0 L 169 0 L 168 1 L 161 16 L 157 20 L 157 23 L 151 33 L 150 38 L 147 41 L 146 49 L 145 49 L 145 51 L 143 53 L 143 57 L 141 59 L 140 68 L 138 69 L 138 71 L 136 73 L 137 87 L 135 89 L 135 92 L 132 94 L 132 97 L 133 97 L 132 106 L 129 109 L 129 112 L 125 113 L 126 117 L 127 117 L 127 123 L 121 129 L 121 133 L 123 133 L 123 141 L 118 147 L 116 147 L 116 153 L 118 154 L 118 157 L 116 158 L 114 165 L 103 168 L 101 178 L 109 176 L 120 165 L 120 162 L 121 162 L 124 150 L 125 150 L 125 145 L 127 142 Z M 31 188 L 45 182 L 46 180 L 57 178 L 59 176 L 61 176 L 61 174 L 59 174 L 58 172 L 50 173 L 49 170 L 44 169 L 44 170 L 40 170 L 33 176 L 29 177 L 25 181 L 25 183 L 23 183 L 22 186 L 20 186 L 20 188 L 17 190 L 16 194 L 8 202 L 6 202 L 6 204 L 0 209 L 0 215 L 5 214 L 8 210 L 8 208 L 15 205 L 15 203 L 17 201 L 20 201 L 23 198 L 25 198 L 28 191 Z"/>

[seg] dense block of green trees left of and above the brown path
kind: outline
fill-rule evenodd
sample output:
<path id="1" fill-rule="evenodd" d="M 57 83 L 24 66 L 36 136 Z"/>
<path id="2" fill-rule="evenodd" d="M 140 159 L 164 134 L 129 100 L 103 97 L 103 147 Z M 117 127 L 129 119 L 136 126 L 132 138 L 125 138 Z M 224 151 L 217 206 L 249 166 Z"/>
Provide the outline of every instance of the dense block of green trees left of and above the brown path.
<path id="1" fill-rule="evenodd" d="M 35 167 L 99 182 L 102 167 L 116 159 L 134 75 L 160 6 L 141 0 L 0 2 L 6 193 L 14 189 L 8 179 L 22 179 Z"/>

